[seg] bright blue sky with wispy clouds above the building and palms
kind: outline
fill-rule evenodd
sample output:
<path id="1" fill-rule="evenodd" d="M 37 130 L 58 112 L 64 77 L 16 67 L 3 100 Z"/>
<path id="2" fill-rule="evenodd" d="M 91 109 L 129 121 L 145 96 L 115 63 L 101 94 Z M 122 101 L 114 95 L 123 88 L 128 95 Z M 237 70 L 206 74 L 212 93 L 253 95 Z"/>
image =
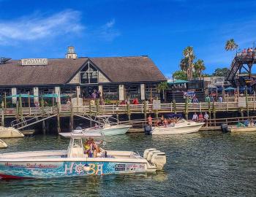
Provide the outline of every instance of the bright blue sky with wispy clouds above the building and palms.
<path id="1" fill-rule="evenodd" d="M 190 45 L 211 73 L 230 66 L 227 39 L 256 43 L 255 9 L 249 0 L 0 0 L 0 56 L 64 58 L 73 45 L 79 56 L 149 55 L 170 76 Z"/>

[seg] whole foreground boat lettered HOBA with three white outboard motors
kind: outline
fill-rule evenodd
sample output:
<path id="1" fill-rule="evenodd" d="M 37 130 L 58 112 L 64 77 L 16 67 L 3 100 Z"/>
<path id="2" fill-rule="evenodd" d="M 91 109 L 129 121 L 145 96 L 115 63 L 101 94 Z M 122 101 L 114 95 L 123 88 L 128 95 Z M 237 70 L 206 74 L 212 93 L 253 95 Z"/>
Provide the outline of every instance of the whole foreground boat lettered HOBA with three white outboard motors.
<path id="1" fill-rule="evenodd" d="M 0 154 L 0 178 L 83 177 L 105 174 L 150 173 L 163 169 L 165 152 L 104 150 L 88 158 L 81 138 L 71 138 L 67 150 L 12 152 Z"/>

